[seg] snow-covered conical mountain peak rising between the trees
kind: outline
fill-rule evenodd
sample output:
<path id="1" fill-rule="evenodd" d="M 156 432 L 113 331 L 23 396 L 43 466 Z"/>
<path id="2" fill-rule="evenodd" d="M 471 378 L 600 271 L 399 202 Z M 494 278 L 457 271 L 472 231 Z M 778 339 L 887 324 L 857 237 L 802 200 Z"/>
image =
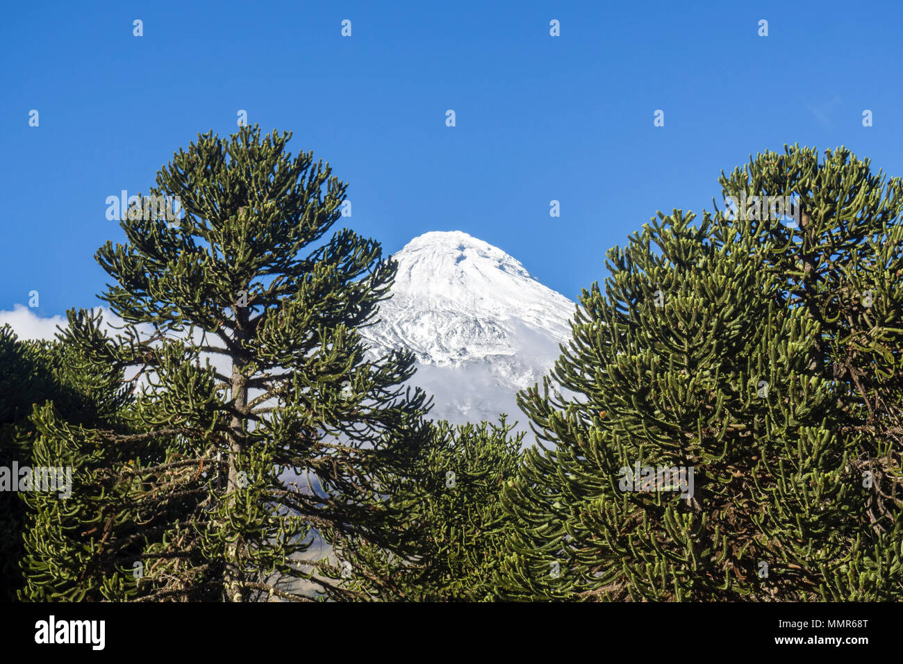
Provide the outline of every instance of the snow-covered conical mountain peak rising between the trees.
<path id="1" fill-rule="evenodd" d="M 412 385 L 433 395 L 434 418 L 519 421 L 517 390 L 551 369 L 570 338 L 574 304 L 540 284 L 504 251 L 467 233 L 411 240 L 398 262 L 379 323 L 361 332 L 374 351 L 414 351 Z"/>

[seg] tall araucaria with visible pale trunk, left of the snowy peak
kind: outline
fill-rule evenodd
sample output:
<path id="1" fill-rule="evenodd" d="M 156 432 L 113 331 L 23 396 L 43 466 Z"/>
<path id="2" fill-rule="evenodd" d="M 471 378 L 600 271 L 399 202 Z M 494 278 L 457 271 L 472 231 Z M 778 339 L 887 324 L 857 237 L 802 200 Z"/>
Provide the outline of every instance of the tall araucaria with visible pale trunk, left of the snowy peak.
<path id="1" fill-rule="evenodd" d="M 126 244 L 97 253 L 123 332 L 70 314 L 70 344 L 144 384 L 128 435 L 96 436 L 135 450 L 110 482 L 122 510 L 153 524 L 136 552 L 140 533 L 107 533 L 107 551 L 132 549 L 98 568 L 140 563 L 129 592 L 144 599 L 340 598 L 338 561 L 305 553 L 315 533 L 337 550 L 392 544 L 373 478 L 402 472 L 420 444 L 424 394 L 401 387 L 410 355 L 372 359 L 357 328 L 396 265 L 349 229 L 327 235 L 346 185 L 312 154 L 287 153 L 290 137 L 242 127 L 180 149 L 150 193 L 179 201 L 183 218 L 135 206 Z M 152 439 L 153 450 L 135 447 Z M 286 578 L 307 590 L 286 590 Z"/>

